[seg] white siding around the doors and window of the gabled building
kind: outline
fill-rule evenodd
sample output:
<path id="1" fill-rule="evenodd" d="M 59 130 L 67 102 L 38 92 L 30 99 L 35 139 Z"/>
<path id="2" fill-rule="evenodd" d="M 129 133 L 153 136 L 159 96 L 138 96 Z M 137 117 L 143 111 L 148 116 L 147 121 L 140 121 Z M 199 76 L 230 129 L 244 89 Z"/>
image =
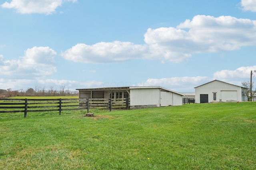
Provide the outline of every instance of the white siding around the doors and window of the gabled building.
<path id="1" fill-rule="evenodd" d="M 213 102 L 213 93 L 216 93 L 217 95 L 216 101 L 218 102 L 220 101 L 220 99 L 222 100 L 221 91 L 236 91 L 237 101 L 244 101 L 242 100 L 241 87 L 215 80 L 213 82 L 209 82 L 207 84 L 204 84 L 202 86 L 195 88 L 195 92 L 196 92 L 195 103 L 200 103 L 200 94 L 208 94 L 208 102 Z"/>

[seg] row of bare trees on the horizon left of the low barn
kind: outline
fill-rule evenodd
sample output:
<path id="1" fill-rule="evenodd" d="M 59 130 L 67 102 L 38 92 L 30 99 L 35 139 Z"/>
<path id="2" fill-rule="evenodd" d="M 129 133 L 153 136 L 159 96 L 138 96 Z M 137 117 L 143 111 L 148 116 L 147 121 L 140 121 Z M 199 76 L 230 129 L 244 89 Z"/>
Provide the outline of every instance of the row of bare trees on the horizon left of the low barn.
<path id="1" fill-rule="evenodd" d="M 48 89 L 45 86 L 35 86 L 26 90 L 0 89 L 0 98 L 13 96 L 78 96 L 78 91 L 66 89 L 64 84 L 60 85 L 58 90 L 54 86 L 50 86 Z"/>

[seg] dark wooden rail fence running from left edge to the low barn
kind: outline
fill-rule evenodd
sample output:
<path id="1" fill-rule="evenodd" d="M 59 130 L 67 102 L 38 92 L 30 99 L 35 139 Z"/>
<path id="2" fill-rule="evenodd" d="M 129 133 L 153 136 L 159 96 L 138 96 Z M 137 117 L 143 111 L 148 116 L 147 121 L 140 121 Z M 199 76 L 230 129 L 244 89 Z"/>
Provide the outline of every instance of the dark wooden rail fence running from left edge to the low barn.
<path id="1" fill-rule="evenodd" d="M 61 111 L 90 108 L 109 109 L 126 108 L 130 109 L 130 99 L 0 99 L 0 113 L 23 112 L 27 117 L 28 112 Z"/>

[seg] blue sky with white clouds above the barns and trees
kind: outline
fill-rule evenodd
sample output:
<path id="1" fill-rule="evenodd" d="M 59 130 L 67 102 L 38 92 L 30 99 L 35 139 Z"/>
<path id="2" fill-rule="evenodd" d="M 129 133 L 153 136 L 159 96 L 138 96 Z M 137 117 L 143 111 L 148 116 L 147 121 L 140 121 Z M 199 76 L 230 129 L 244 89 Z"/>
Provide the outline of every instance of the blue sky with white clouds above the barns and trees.
<path id="1" fill-rule="evenodd" d="M 0 0 L 0 89 L 194 92 L 255 60 L 256 0 Z"/>

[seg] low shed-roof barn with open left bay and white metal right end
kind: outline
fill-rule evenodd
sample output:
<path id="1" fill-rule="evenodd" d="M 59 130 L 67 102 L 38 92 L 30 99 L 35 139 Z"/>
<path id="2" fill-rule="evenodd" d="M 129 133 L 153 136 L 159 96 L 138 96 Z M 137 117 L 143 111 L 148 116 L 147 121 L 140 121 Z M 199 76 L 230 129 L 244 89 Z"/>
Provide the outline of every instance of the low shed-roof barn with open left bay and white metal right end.
<path id="1" fill-rule="evenodd" d="M 160 86 L 87 88 L 79 90 L 79 98 L 130 98 L 130 108 L 181 106 L 181 93 Z"/>

